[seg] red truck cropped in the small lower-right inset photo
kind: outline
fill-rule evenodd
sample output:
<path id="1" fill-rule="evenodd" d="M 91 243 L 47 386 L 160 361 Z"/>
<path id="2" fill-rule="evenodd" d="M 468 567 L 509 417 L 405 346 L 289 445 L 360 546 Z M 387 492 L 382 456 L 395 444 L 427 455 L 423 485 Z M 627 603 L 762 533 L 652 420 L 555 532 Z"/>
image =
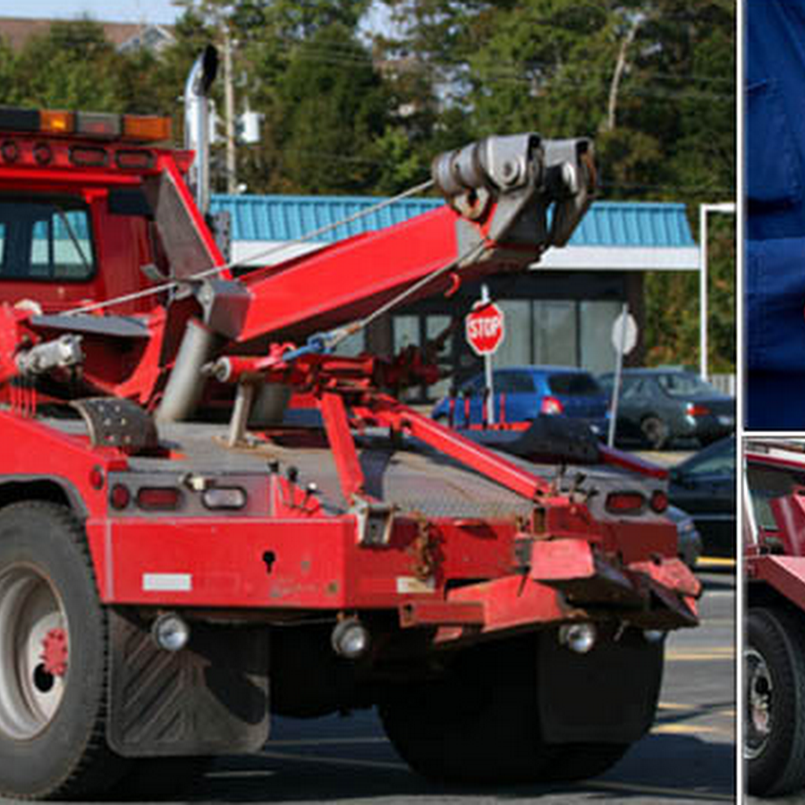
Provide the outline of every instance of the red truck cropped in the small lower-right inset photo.
<path id="1" fill-rule="evenodd" d="M 805 786 L 805 442 L 745 439 L 747 788 Z"/>

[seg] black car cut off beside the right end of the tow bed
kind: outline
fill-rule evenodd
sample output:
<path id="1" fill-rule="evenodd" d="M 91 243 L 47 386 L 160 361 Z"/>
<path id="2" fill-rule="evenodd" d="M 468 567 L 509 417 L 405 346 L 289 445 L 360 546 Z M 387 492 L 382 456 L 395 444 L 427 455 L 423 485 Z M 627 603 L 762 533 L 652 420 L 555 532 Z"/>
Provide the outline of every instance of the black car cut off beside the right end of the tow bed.
<path id="1" fill-rule="evenodd" d="M 705 555 L 735 555 L 735 437 L 705 447 L 670 471 L 668 497 L 687 512 Z"/>

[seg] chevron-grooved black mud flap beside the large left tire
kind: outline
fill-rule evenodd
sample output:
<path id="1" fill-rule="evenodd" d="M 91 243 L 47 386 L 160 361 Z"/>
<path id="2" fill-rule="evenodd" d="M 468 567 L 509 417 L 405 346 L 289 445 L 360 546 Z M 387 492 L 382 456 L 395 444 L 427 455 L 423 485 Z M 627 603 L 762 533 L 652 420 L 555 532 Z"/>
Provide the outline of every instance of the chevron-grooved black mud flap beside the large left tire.
<path id="1" fill-rule="evenodd" d="M 191 623 L 187 648 L 157 647 L 125 609 L 109 618 L 107 736 L 124 757 L 232 755 L 268 737 L 268 629 Z"/>

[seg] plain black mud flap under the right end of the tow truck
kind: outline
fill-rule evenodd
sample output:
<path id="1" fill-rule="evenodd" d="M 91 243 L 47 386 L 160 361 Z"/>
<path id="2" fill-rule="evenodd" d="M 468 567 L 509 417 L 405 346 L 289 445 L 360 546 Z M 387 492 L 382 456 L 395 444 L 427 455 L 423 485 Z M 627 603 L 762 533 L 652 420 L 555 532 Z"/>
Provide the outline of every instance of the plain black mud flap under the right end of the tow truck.
<path id="1" fill-rule="evenodd" d="M 663 642 L 640 630 L 599 629 L 589 654 L 542 632 L 538 648 L 538 699 L 547 743 L 631 743 L 651 727 L 663 677 Z"/>

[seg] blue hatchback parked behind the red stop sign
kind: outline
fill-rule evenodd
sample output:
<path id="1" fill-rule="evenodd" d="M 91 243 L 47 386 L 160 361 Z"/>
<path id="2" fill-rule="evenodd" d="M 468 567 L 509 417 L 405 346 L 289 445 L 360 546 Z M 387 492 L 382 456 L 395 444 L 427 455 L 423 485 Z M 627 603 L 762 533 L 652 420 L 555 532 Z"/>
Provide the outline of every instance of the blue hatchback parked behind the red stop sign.
<path id="1" fill-rule="evenodd" d="M 495 369 L 495 421 L 530 422 L 540 415 L 564 416 L 586 422 L 597 436 L 606 436 L 607 397 L 596 379 L 583 369 L 564 366 L 523 366 Z M 472 377 L 453 402 L 453 427 L 466 428 L 484 420 L 483 373 Z M 466 411 L 469 407 L 469 422 Z M 445 397 L 431 412 L 433 419 L 450 418 Z M 503 411 L 503 416 L 501 412 Z"/>

